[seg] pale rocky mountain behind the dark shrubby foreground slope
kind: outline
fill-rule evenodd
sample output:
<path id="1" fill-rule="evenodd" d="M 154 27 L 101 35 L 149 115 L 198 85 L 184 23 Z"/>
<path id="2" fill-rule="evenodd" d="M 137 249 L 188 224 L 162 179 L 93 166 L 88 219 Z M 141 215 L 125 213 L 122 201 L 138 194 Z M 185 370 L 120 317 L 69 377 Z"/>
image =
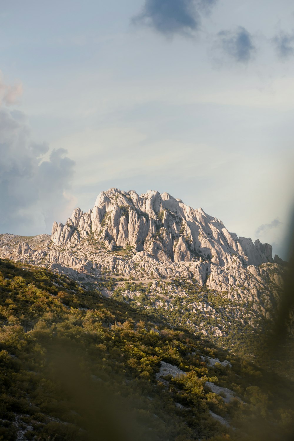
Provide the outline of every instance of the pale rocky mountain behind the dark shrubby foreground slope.
<path id="1" fill-rule="evenodd" d="M 153 308 L 228 347 L 265 326 L 279 303 L 283 261 L 168 193 L 112 188 L 93 209 L 74 209 L 51 237 L 0 236 L 0 257 L 29 262 Z"/>

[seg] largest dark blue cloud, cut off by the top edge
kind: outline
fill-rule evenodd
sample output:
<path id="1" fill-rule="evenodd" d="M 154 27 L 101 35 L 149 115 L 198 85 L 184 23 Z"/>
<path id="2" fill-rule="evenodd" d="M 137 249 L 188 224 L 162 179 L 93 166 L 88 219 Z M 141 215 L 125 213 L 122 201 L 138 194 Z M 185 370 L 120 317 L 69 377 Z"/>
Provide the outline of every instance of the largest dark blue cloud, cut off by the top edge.
<path id="1" fill-rule="evenodd" d="M 145 0 L 142 12 L 132 22 L 166 35 L 193 35 L 200 26 L 200 13 L 207 13 L 215 3 L 216 0 Z"/>

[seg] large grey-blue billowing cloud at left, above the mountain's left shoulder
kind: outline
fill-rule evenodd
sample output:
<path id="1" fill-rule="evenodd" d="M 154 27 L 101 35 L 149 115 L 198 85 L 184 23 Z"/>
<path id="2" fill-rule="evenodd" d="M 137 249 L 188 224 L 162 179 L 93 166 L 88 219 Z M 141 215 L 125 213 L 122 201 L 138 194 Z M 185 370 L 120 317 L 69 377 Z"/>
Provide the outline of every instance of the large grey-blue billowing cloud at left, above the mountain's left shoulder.
<path id="1" fill-rule="evenodd" d="M 11 101 L 17 94 L 12 92 Z M 33 142 L 26 116 L 0 108 L 0 233 L 50 232 L 52 222 L 69 209 L 74 161 L 66 153 Z"/>

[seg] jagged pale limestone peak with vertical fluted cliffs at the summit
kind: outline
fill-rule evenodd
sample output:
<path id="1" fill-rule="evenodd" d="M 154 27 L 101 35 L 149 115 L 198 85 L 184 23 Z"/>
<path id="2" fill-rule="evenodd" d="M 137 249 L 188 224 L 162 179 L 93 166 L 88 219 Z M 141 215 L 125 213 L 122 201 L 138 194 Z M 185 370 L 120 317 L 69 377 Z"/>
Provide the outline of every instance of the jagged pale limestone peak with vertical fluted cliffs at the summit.
<path id="1" fill-rule="evenodd" d="M 108 250 L 131 247 L 160 262 L 209 261 L 220 266 L 273 262 L 271 245 L 238 237 L 203 209 L 154 190 L 139 195 L 110 188 L 97 196 L 93 209 L 83 213 L 76 208 L 65 225 L 54 222 L 52 227 L 57 246 L 73 247 L 90 237 Z"/>

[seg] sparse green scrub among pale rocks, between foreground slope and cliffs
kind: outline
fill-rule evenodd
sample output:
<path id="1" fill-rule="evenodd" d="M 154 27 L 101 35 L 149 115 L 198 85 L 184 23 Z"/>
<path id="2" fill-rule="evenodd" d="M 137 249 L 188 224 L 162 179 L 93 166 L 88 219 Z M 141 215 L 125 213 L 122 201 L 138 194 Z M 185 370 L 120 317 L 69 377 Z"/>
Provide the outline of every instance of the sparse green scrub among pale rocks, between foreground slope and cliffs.
<path id="1" fill-rule="evenodd" d="M 108 282 L 109 283 L 109 282 Z M 101 285 L 102 286 L 102 285 Z M 109 285 L 110 286 L 110 285 Z M 176 289 L 185 292 L 178 295 Z M 175 277 L 172 282 L 156 280 L 152 282 L 125 281 L 123 285 L 112 284 L 112 297 L 126 301 L 131 306 L 149 311 L 158 321 L 165 321 L 172 326 L 184 326 L 193 334 L 200 330 L 223 329 L 222 334 L 210 332 L 209 339 L 222 349 L 233 350 L 242 358 L 254 359 L 255 355 L 265 349 L 266 330 L 272 321 L 262 315 L 258 321 L 252 318 L 250 303 L 227 298 L 227 292 L 216 292 L 200 286 L 197 280 Z M 173 295 L 176 292 L 176 295 Z M 201 310 L 201 306 L 205 309 Z M 238 318 L 238 312 L 245 308 L 248 311 L 246 321 Z M 257 329 L 262 331 L 257 333 Z M 203 335 L 203 334 L 200 334 Z M 252 356 L 253 355 L 253 356 Z"/>

